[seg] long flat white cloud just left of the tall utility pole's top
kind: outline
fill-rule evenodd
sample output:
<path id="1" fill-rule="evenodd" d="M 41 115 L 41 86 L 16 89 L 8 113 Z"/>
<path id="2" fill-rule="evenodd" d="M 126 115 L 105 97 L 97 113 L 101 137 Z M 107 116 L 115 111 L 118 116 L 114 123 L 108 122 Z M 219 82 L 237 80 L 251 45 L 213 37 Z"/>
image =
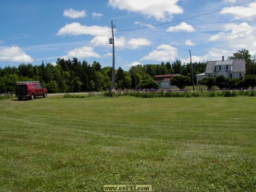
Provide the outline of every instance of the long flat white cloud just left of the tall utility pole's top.
<path id="1" fill-rule="evenodd" d="M 101 26 L 83 26 L 78 22 L 66 24 L 62 27 L 57 35 L 93 35 L 93 36 L 106 36 L 111 31 L 109 27 Z"/>

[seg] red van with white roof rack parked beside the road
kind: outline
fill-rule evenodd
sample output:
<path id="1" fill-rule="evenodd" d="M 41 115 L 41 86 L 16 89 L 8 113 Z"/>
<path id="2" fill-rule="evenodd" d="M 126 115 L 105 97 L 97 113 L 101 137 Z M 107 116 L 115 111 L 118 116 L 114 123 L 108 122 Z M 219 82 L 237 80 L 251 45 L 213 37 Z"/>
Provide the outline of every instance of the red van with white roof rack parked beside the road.
<path id="1" fill-rule="evenodd" d="M 33 100 L 37 96 L 47 97 L 47 89 L 39 81 L 17 82 L 15 87 L 15 97 L 19 100 L 30 98 Z"/>

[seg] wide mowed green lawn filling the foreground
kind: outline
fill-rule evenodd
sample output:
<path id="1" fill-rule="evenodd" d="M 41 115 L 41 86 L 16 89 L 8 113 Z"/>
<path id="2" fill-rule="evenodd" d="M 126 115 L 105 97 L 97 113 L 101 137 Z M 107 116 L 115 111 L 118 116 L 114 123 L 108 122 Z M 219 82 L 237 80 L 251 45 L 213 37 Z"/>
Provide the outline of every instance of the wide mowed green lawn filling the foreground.
<path id="1" fill-rule="evenodd" d="M 256 97 L 0 100 L 0 191 L 256 191 Z"/>

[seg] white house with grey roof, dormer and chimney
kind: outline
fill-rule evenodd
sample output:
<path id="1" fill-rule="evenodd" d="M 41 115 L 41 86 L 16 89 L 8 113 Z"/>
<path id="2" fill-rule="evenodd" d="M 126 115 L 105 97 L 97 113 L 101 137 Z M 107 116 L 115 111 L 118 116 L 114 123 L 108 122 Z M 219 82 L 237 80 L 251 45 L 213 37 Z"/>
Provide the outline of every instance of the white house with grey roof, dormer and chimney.
<path id="1" fill-rule="evenodd" d="M 245 59 L 234 59 L 234 60 L 222 60 L 220 61 L 207 61 L 205 73 L 197 74 L 196 81 L 204 77 L 217 77 L 223 75 L 229 78 L 239 78 L 244 76 L 245 70 Z"/>

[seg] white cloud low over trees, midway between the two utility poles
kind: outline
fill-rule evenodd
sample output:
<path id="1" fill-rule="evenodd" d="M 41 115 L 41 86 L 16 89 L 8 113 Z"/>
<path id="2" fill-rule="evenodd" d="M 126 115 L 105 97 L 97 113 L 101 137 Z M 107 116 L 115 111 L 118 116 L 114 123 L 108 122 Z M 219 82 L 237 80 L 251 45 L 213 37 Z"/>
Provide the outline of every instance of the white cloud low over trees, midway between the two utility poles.
<path id="1" fill-rule="evenodd" d="M 154 61 L 173 61 L 177 59 L 177 49 L 170 45 L 162 44 L 157 47 L 158 50 L 150 52 L 141 60 L 154 60 Z"/>

